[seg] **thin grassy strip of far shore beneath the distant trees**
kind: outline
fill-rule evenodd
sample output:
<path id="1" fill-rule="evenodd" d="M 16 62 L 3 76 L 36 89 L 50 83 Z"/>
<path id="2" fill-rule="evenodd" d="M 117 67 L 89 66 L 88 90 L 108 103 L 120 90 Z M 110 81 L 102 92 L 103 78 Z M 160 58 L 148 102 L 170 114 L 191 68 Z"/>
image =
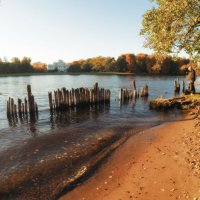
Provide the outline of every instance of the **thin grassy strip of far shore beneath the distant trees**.
<path id="1" fill-rule="evenodd" d="M 20 77 L 20 76 L 50 76 L 50 75 L 130 75 L 130 76 L 184 76 L 175 74 L 147 74 L 129 72 L 34 72 L 34 73 L 14 73 L 0 74 L 0 77 Z"/>

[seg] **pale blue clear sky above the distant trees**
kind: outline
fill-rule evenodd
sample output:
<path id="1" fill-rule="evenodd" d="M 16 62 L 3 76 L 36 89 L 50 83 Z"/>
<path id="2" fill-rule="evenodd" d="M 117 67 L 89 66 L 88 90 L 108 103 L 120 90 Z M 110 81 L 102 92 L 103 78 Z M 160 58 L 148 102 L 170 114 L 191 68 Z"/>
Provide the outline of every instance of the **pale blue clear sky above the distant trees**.
<path id="1" fill-rule="evenodd" d="M 0 0 L 0 57 L 65 62 L 152 53 L 139 35 L 148 0 Z"/>

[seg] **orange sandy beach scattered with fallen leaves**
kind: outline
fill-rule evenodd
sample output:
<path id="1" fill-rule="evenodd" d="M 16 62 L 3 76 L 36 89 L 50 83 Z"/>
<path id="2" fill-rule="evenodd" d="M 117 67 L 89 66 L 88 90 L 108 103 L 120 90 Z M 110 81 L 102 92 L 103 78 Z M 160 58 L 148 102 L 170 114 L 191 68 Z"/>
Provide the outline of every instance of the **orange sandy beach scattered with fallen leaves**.
<path id="1" fill-rule="evenodd" d="M 60 200 L 200 198 L 200 128 L 192 118 L 132 136 Z"/>

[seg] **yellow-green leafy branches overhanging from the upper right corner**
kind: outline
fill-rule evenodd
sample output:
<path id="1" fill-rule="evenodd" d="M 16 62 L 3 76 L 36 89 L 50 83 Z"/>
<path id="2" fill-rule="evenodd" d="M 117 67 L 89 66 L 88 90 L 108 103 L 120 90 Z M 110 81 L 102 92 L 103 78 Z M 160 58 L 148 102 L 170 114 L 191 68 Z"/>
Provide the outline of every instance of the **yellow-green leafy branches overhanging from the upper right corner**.
<path id="1" fill-rule="evenodd" d="M 159 53 L 187 54 L 200 60 L 200 1 L 151 0 L 156 7 L 143 17 L 145 46 Z"/>

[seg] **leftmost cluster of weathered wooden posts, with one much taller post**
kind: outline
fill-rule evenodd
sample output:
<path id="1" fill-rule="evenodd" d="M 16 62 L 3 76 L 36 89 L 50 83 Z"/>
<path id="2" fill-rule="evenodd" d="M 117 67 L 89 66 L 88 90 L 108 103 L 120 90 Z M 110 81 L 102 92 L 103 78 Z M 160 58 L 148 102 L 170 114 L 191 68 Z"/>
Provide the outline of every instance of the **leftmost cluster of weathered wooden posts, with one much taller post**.
<path id="1" fill-rule="evenodd" d="M 7 101 L 8 118 L 28 116 L 28 113 L 30 117 L 38 115 L 38 106 L 34 100 L 34 96 L 32 95 L 30 85 L 27 85 L 27 93 L 28 100 L 27 98 L 24 98 L 24 102 L 22 101 L 22 99 L 18 99 L 17 103 L 15 103 L 14 99 L 9 97 Z"/>

